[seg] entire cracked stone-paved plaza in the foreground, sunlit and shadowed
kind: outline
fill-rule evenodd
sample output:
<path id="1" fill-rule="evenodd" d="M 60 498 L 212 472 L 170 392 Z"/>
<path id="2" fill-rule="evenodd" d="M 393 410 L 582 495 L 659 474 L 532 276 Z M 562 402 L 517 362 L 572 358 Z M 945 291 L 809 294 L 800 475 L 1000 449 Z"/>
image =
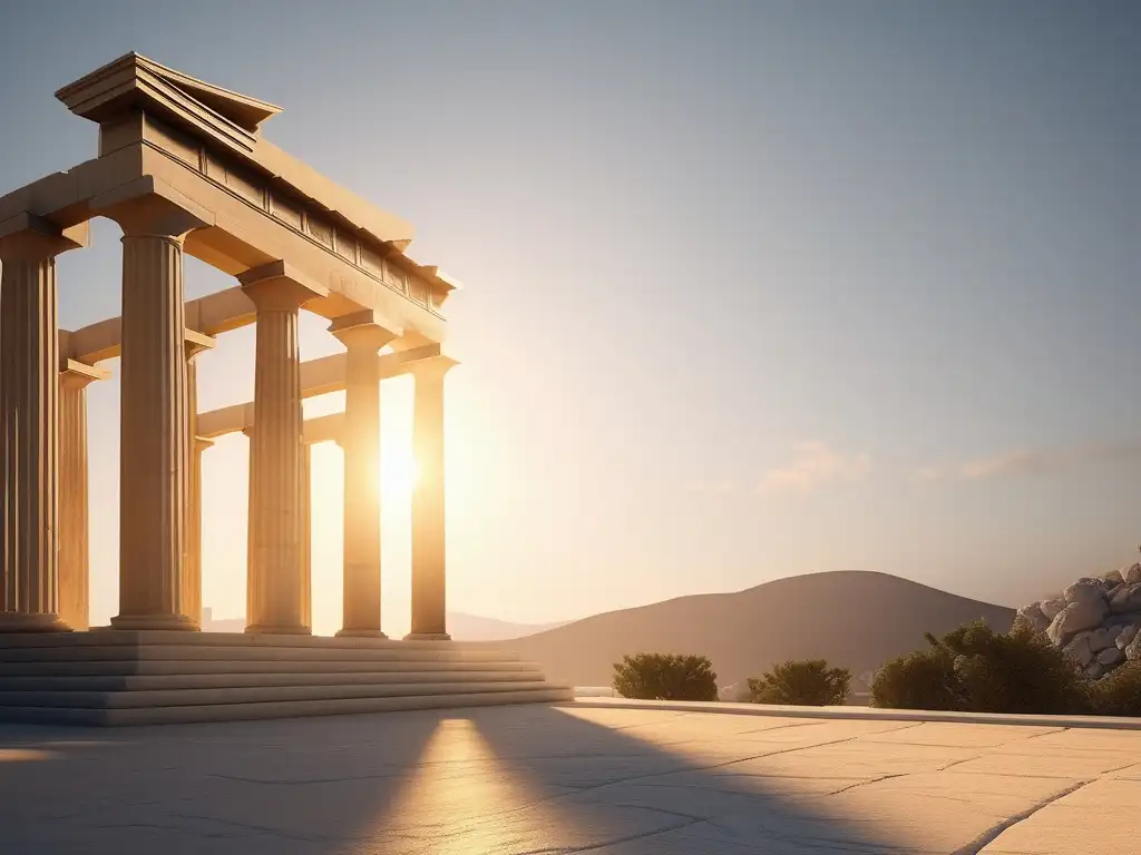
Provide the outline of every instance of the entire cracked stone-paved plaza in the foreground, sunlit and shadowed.
<path id="1" fill-rule="evenodd" d="M 5 853 L 1126 853 L 1141 732 L 524 706 L 0 727 Z"/>

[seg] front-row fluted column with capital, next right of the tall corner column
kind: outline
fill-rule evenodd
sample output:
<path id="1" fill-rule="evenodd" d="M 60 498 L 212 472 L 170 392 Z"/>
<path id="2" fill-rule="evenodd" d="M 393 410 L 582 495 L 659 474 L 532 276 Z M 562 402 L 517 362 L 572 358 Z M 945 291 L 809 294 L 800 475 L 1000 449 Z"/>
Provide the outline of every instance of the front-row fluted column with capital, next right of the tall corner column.
<path id="1" fill-rule="evenodd" d="M 284 262 L 238 277 L 258 310 L 250 445 L 248 633 L 307 634 L 301 596 L 301 377 L 298 311 L 327 290 Z"/>

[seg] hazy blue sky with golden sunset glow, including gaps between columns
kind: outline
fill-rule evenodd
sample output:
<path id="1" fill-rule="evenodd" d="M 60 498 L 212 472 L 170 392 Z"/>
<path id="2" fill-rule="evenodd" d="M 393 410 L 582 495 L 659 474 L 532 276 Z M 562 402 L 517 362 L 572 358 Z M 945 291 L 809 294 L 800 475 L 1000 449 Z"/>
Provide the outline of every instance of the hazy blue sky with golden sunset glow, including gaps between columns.
<path id="1" fill-rule="evenodd" d="M 830 570 L 1018 605 L 1139 557 L 1139 40 L 1128 0 L 0 0 L 0 193 L 95 156 L 52 92 L 136 50 L 282 106 L 267 138 L 414 223 L 464 285 L 451 609 L 552 621 Z M 92 229 L 59 260 L 66 328 L 120 314 L 119 230 Z M 186 283 L 235 284 L 194 259 Z M 341 349 L 325 326 L 302 317 L 302 358 Z M 201 409 L 252 397 L 252 355 L 251 328 L 200 358 Z M 398 463 L 408 381 L 382 397 Z M 118 381 L 89 402 L 102 622 Z M 340 451 L 314 466 L 330 633 Z M 244 438 L 203 479 L 203 602 L 241 616 Z"/>

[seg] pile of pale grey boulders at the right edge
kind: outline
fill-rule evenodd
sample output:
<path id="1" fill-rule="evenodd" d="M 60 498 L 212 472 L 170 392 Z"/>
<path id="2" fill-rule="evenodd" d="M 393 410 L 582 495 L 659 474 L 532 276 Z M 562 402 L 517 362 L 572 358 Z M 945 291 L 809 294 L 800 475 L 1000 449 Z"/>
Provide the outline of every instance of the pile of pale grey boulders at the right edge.
<path id="1" fill-rule="evenodd" d="M 1045 633 L 1086 676 L 1100 679 L 1141 659 L 1141 564 L 1078 579 L 1061 594 L 1019 609 L 1018 620 Z"/>

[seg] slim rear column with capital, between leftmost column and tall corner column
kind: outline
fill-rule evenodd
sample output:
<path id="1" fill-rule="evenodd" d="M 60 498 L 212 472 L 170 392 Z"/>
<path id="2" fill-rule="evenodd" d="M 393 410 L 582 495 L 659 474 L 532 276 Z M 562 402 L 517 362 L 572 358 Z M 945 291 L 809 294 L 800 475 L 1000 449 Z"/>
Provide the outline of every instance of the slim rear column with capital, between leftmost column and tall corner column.
<path id="1" fill-rule="evenodd" d="M 59 618 L 89 625 L 87 386 L 111 372 L 64 359 L 59 372 Z"/>

